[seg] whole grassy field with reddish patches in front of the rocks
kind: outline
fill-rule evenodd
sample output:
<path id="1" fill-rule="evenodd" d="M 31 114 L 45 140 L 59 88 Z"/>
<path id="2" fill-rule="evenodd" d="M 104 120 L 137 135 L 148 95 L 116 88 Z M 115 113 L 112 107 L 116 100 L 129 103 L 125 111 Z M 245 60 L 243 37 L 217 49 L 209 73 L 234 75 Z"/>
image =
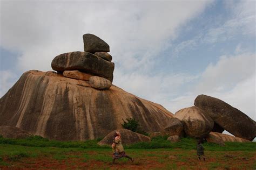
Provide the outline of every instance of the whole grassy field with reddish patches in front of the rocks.
<path id="1" fill-rule="evenodd" d="M 256 143 L 204 143 L 206 161 L 198 161 L 196 140 L 183 138 L 172 144 L 164 137 L 150 143 L 125 146 L 126 158 L 112 165 L 110 146 L 98 140 L 52 141 L 42 137 L 5 139 L 0 137 L 0 168 L 57 169 L 256 169 Z"/>

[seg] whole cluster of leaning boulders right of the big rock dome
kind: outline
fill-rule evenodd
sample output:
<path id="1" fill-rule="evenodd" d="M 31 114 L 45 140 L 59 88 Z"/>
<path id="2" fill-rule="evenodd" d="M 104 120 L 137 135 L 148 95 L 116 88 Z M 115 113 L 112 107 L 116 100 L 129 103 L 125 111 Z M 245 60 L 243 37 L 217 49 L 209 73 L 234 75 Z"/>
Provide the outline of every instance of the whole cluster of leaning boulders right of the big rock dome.
<path id="1" fill-rule="evenodd" d="M 235 137 L 222 134 L 224 130 Z M 226 141 L 252 141 L 256 137 L 256 123 L 218 98 L 199 95 L 194 106 L 176 112 L 164 131 L 170 141 L 179 140 L 184 133 L 185 136 L 224 144 Z"/>

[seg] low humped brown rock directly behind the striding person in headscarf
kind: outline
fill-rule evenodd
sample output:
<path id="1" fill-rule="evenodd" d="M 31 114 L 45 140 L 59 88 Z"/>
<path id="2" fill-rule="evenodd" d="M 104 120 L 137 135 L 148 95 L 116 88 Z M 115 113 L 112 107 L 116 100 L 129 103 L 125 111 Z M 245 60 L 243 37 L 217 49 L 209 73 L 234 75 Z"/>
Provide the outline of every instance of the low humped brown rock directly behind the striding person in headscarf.
<path id="1" fill-rule="evenodd" d="M 121 133 L 122 144 L 134 144 L 140 141 L 150 141 L 150 137 L 143 134 L 139 134 L 127 129 L 118 129 L 110 132 L 102 140 L 99 141 L 98 145 L 111 145 L 114 139 L 114 133 L 118 131 Z"/>

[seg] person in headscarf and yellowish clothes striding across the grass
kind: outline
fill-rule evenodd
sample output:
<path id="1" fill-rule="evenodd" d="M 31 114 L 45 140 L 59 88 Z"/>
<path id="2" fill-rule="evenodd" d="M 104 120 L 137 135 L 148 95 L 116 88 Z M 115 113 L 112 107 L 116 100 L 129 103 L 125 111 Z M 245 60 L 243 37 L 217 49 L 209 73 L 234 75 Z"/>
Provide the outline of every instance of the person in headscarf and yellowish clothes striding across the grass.
<path id="1" fill-rule="evenodd" d="M 121 133 L 120 132 L 115 132 L 114 133 L 114 140 L 112 144 L 112 150 L 113 150 L 113 164 L 116 159 L 119 158 L 129 158 L 133 162 L 133 158 L 129 157 L 128 155 L 125 154 L 124 152 L 124 147 L 122 145 L 122 138 L 121 138 Z"/>

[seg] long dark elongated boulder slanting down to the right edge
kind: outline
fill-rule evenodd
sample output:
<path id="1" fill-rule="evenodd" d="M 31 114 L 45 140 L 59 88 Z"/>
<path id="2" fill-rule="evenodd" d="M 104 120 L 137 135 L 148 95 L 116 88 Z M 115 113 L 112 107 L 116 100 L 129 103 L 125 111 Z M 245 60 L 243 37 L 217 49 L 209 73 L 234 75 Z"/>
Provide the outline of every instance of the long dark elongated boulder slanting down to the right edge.
<path id="1" fill-rule="evenodd" d="M 236 137 L 253 140 L 256 137 L 256 123 L 240 110 L 206 95 L 197 96 L 194 105 L 203 109 L 214 122 Z"/>

